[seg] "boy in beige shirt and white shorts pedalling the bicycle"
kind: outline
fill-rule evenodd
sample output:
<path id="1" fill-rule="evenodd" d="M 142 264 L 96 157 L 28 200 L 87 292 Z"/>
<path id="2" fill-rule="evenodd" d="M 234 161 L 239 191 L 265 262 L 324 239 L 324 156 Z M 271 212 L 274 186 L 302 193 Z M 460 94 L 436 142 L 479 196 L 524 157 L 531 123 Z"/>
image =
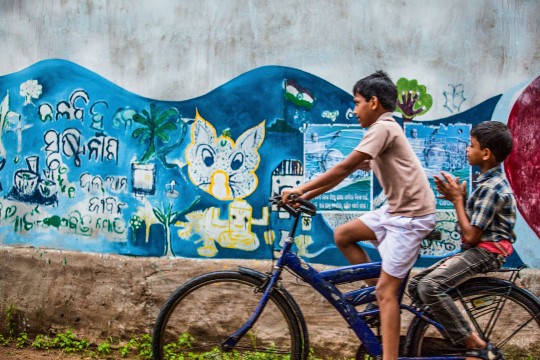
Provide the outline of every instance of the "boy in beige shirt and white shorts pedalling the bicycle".
<path id="1" fill-rule="evenodd" d="M 354 171 L 373 169 L 387 205 L 336 228 L 334 240 L 351 264 L 369 262 L 357 242 L 371 240 L 382 258 L 377 284 L 383 359 L 399 353 L 399 287 L 414 265 L 420 245 L 435 227 L 435 195 L 403 129 L 392 117 L 397 88 L 383 71 L 359 80 L 353 88 L 354 114 L 368 128 L 360 144 L 342 162 L 317 178 L 283 191 L 283 202 L 292 194 L 310 200 L 332 189 Z"/>

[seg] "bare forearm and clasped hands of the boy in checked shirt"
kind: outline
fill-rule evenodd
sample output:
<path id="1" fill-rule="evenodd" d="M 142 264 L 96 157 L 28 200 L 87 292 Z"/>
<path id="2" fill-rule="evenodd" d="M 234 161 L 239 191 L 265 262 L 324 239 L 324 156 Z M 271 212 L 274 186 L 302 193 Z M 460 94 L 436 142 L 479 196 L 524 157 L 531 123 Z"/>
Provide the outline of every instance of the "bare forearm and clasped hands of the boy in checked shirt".
<path id="1" fill-rule="evenodd" d="M 482 238 L 483 231 L 477 226 L 471 225 L 470 219 L 465 211 L 465 200 L 467 197 L 467 182 L 459 183 L 459 178 L 452 178 L 450 174 L 441 172 L 441 177 L 433 176 L 437 191 L 441 194 L 439 198 L 451 201 L 456 209 L 458 223 L 461 228 L 462 241 L 465 244 L 476 246 Z M 446 180 L 446 181 L 445 181 Z"/>

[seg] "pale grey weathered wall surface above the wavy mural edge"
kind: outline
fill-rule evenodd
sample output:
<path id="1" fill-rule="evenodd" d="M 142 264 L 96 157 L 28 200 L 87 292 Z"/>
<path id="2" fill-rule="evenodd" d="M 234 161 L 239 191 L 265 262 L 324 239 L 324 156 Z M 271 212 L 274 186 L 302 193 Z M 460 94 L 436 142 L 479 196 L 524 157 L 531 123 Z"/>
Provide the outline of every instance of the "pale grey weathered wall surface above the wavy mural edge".
<path id="1" fill-rule="evenodd" d="M 265 65 L 301 69 L 349 92 L 376 69 L 419 79 L 449 115 L 529 82 L 540 67 L 537 1 L 0 1 L 0 74 L 43 59 L 80 64 L 154 99 L 205 94 Z M 32 41 L 30 41 L 32 40 Z"/>

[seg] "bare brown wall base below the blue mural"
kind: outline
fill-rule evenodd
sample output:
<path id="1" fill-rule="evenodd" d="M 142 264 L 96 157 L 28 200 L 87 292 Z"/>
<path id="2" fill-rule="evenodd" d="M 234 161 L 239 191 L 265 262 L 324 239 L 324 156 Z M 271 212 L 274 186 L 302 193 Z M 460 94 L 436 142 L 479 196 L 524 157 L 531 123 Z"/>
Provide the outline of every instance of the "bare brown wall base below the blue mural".
<path id="1" fill-rule="evenodd" d="M 33 336 L 72 329 L 95 343 L 109 337 L 125 342 L 151 333 L 165 300 L 196 275 L 237 266 L 261 272 L 272 267 L 269 261 L 127 258 L 10 247 L 0 249 L 0 259 L 0 311 L 16 306 L 13 320 L 19 331 Z M 321 271 L 330 267 L 315 268 Z M 526 269 L 521 274 L 519 284 L 539 295 L 540 271 Z M 324 359 L 354 357 L 360 343 L 341 315 L 318 292 L 288 272 L 283 273 L 283 285 L 301 308 L 316 354 Z M 340 290 L 351 291 L 358 285 L 341 285 Z M 411 320 L 412 316 L 403 311 L 403 334 Z M 0 333 L 7 334 L 4 322 L 0 323 Z"/>

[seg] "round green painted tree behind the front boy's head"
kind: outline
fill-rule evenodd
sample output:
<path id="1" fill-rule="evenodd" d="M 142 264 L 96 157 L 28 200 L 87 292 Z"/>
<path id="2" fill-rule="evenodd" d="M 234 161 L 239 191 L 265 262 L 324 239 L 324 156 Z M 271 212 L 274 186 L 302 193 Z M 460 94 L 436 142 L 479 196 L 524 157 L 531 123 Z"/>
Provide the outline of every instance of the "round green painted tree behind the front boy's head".
<path id="1" fill-rule="evenodd" d="M 416 80 L 401 78 L 397 82 L 398 101 L 396 111 L 403 114 L 403 121 L 412 121 L 415 116 L 425 114 L 433 105 L 433 98 L 425 85 Z"/>

